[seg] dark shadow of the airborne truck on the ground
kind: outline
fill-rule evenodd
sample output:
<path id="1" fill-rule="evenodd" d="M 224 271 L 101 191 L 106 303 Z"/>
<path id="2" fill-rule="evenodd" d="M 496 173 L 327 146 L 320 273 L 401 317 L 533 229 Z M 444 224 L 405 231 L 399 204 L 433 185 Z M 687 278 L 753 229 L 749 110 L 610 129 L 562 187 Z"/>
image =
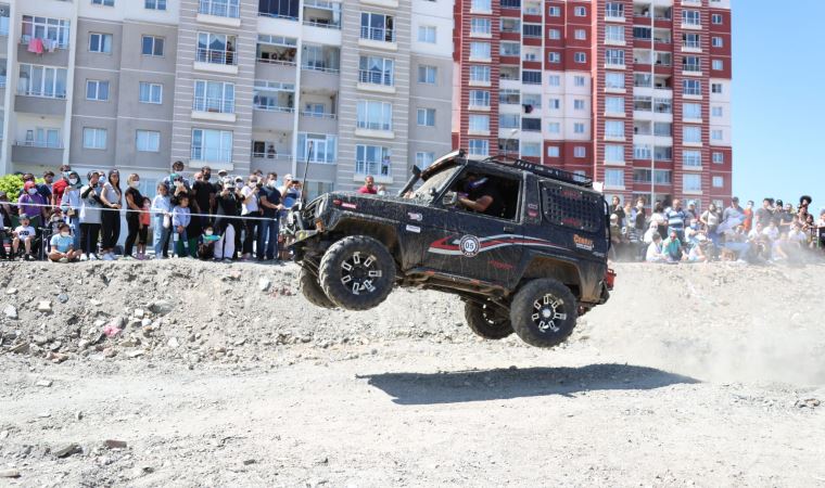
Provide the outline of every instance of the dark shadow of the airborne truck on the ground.
<path id="1" fill-rule="evenodd" d="M 398 404 L 460 403 L 608 389 L 655 389 L 698 380 L 653 368 L 589 364 L 582 368 L 525 368 L 432 374 L 383 373 L 358 376 Z"/>

